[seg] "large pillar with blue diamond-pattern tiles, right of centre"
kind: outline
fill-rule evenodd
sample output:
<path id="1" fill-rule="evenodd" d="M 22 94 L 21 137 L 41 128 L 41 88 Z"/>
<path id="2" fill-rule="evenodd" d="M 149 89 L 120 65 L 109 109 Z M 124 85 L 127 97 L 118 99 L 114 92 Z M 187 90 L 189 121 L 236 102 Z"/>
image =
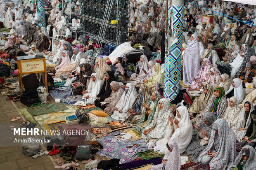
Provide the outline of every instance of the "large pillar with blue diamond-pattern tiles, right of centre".
<path id="1" fill-rule="evenodd" d="M 169 100 L 174 100 L 180 91 L 183 7 L 184 0 L 173 0 L 168 5 L 168 23 L 171 27 L 168 26 L 168 30 L 172 29 L 173 33 L 166 33 L 168 49 L 165 55 L 164 97 Z"/>

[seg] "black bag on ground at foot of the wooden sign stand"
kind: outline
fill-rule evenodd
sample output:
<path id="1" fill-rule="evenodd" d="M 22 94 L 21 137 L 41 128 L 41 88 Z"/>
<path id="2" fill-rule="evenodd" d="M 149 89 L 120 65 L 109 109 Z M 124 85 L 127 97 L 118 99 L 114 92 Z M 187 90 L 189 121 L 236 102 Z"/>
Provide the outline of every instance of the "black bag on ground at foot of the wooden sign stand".
<path id="1" fill-rule="evenodd" d="M 36 89 L 27 89 L 21 94 L 21 103 L 30 106 L 33 103 L 40 102 L 40 98 L 38 96 L 38 92 Z"/>

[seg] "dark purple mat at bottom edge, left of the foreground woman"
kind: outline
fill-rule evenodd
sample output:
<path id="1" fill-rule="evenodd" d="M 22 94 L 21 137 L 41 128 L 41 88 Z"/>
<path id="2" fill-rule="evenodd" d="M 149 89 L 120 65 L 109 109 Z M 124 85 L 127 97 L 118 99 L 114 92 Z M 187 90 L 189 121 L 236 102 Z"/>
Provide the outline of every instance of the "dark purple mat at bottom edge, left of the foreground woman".
<path id="1" fill-rule="evenodd" d="M 141 159 L 138 161 L 134 160 L 133 162 L 120 164 L 119 167 L 123 170 L 135 170 L 137 168 L 143 168 L 148 165 L 158 165 L 161 163 L 162 163 L 161 158 L 152 158 L 150 160 Z"/>

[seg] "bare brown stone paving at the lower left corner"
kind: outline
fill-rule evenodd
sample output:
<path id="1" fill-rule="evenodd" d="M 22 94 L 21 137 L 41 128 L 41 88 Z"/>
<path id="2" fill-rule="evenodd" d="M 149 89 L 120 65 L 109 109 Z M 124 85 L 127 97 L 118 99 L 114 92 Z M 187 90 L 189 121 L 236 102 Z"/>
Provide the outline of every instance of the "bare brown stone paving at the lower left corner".
<path id="1" fill-rule="evenodd" d="M 2 90 L 0 90 L 2 91 Z M 20 101 L 12 102 L 6 100 L 6 95 L 0 94 L 0 124 L 1 123 L 20 123 L 24 121 L 24 116 L 22 117 L 19 112 L 20 108 L 26 107 Z M 14 116 L 21 116 L 21 119 L 18 121 L 11 122 Z M 24 119 L 23 119 L 24 118 Z M 6 142 L 13 142 L 13 136 L 7 136 L 5 130 L 0 129 L 1 138 L 0 140 Z M 46 150 L 46 147 L 43 146 Z M 59 148 L 60 149 L 60 148 Z M 33 159 L 32 156 L 25 156 L 21 151 L 20 147 L 8 147 L 8 146 L 0 146 L 0 169 L 3 170 L 54 170 L 54 166 L 56 163 L 54 160 L 59 158 L 61 161 L 63 160 L 59 154 L 54 156 L 43 155 L 36 159 Z M 79 169 L 84 169 L 85 165 L 81 162 L 78 162 L 80 166 Z"/>

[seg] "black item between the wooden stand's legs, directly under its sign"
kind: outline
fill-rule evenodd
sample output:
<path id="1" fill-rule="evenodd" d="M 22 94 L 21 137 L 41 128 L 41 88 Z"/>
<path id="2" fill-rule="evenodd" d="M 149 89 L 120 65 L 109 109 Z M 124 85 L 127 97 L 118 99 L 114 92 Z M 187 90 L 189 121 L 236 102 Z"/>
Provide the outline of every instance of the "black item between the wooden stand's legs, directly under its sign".
<path id="1" fill-rule="evenodd" d="M 36 90 L 39 87 L 39 81 L 37 79 L 36 73 L 32 73 L 30 75 L 26 75 L 22 77 L 22 82 L 23 82 L 25 91 L 27 91 L 28 89 Z"/>

